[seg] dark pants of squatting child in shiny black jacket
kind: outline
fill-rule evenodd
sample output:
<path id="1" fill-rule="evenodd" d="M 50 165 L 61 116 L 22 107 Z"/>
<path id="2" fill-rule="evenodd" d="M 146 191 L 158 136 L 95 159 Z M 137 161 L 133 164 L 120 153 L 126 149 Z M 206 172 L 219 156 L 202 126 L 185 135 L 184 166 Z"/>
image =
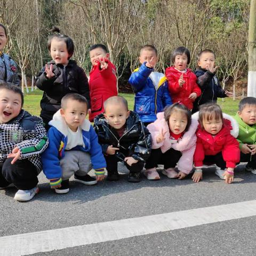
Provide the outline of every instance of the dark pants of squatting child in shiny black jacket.
<path id="1" fill-rule="evenodd" d="M 117 173 L 117 163 L 121 162 L 122 160 L 117 158 L 115 155 L 105 156 L 105 159 L 108 173 Z M 132 166 L 127 164 L 125 161 L 124 164 L 131 173 L 140 173 L 144 167 L 144 163 L 142 161 L 132 164 Z"/>

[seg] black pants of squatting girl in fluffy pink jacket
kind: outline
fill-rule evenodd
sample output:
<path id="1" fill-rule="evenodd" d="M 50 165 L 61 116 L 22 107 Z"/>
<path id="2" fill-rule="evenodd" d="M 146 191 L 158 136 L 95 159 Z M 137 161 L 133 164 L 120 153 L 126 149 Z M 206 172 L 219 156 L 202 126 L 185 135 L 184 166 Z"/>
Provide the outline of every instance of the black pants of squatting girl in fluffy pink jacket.
<path id="1" fill-rule="evenodd" d="M 174 168 L 180 157 L 180 151 L 174 150 L 173 148 L 167 150 L 165 153 L 162 153 L 161 148 L 152 149 L 150 157 L 148 158 L 145 168 L 151 169 L 157 167 L 158 164 L 163 164 L 164 169 Z"/>

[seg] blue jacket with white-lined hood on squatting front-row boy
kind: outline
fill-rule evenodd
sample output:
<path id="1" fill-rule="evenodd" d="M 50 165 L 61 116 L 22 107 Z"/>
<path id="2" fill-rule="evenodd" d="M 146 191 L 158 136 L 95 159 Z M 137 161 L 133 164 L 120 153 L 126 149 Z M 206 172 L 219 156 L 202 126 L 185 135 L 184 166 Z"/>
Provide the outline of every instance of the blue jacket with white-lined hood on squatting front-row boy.
<path id="1" fill-rule="evenodd" d="M 68 126 L 60 115 L 60 110 L 53 115 L 49 125 L 52 126 L 48 131 L 49 146 L 42 154 L 43 172 L 49 180 L 60 179 L 62 174 L 60 159 L 65 157 L 65 148 L 68 141 Z M 89 153 L 95 174 L 104 174 L 104 172 L 97 172 L 97 170 L 106 167 L 106 161 L 102 154 L 101 146 L 98 143 L 98 136 L 93 130 L 91 123 L 86 119 L 81 128 L 85 146 L 76 146 L 71 150 L 81 150 Z"/>

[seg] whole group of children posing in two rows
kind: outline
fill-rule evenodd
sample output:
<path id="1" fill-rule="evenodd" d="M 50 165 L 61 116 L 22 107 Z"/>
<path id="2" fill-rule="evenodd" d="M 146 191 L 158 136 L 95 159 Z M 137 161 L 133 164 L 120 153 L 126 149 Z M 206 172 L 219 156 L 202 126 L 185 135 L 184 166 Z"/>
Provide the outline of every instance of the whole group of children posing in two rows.
<path id="1" fill-rule="evenodd" d="M 14 83 L 17 66 L 2 53 L 7 39 L 0 24 L 0 189 L 18 188 L 14 199 L 29 201 L 38 193 L 37 175 L 42 170 L 51 188 L 65 194 L 73 174 L 75 181 L 94 185 L 105 178 L 107 169 L 107 180 L 117 181 L 118 162 L 129 170 L 129 182 L 139 182 L 141 173 L 159 180 L 158 164 L 164 165 L 162 174 L 168 178 L 183 179 L 191 173 L 194 182 L 203 178 L 204 165 L 215 164 L 215 173 L 226 183 L 233 181 L 239 161 L 247 162 L 246 170 L 256 174 L 256 98 L 241 100 L 235 118 L 222 113 L 217 97 L 231 93 L 215 76 L 211 50 L 199 53 L 194 74 L 187 68 L 188 49 L 178 47 L 172 54 L 173 67 L 164 75 L 154 71 L 156 48 L 143 46 L 141 66 L 129 79 L 135 93 L 130 111 L 127 101 L 117 96 L 116 69 L 106 47 L 90 48 L 88 81 L 70 60 L 72 39 L 58 28 L 53 32 L 57 34 L 47 44 L 52 61 L 36 80 L 44 91 L 41 119 L 22 110 L 23 94 Z M 88 174 L 91 169 L 95 178 Z"/>

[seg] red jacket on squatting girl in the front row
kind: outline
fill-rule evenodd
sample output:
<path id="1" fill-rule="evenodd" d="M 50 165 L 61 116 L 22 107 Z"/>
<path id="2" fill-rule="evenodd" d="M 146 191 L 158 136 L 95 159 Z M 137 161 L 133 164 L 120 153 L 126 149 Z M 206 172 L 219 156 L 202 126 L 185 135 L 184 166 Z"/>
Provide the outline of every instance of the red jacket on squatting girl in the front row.
<path id="1" fill-rule="evenodd" d="M 195 167 L 203 166 L 204 156 L 217 155 L 222 151 L 222 156 L 227 167 L 235 168 L 240 161 L 240 149 L 238 141 L 230 134 L 232 129 L 229 120 L 224 119 L 222 129 L 214 137 L 198 125 L 196 132 L 196 150 L 194 154 Z"/>

